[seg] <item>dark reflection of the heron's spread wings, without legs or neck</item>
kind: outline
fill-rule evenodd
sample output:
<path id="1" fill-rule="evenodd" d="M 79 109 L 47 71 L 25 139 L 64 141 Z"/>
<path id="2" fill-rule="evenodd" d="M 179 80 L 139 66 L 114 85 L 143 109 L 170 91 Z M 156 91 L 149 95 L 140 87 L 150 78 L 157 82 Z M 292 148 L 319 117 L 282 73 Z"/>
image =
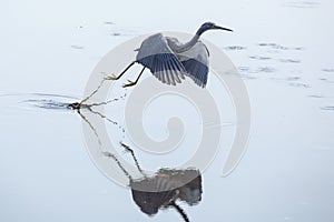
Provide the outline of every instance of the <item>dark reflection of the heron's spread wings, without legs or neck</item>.
<path id="1" fill-rule="evenodd" d="M 155 176 L 130 181 L 132 199 L 149 215 L 168 208 L 177 199 L 189 205 L 202 200 L 202 176 L 198 170 L 160 169 Z"/>

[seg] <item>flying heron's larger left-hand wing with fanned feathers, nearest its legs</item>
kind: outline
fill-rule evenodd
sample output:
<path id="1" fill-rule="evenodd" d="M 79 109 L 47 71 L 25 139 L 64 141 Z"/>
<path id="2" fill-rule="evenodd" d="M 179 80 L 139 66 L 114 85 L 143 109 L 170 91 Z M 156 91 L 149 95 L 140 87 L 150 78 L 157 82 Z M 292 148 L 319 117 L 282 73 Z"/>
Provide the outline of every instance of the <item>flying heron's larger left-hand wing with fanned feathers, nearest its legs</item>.
<path id="1" fill-rule="evenodd" d="M 136 59 L 164 83 L 176 84 L 180 83 L 180 79 L 185 79 L 186 69 L 170 50 L 161 33 L 144 40 Z"/>

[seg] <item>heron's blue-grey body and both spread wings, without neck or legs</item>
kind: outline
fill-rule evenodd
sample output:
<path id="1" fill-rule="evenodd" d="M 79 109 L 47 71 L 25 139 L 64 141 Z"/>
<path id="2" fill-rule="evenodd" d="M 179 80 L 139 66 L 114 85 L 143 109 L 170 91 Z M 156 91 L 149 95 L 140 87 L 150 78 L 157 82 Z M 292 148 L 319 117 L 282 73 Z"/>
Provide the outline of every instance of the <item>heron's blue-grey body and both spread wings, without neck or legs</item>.
<path id="1" fill-rule="evenodd" d="M 136 61 L 164 83 L 175 85 L 188 75 L 196 84 L 205 87 L 208 50 L 199 40 L 187 50 L 173 50 L 181 46 L 176 38 L 164 37 L 161 33 L 150 36 L 143 41 Z"/>

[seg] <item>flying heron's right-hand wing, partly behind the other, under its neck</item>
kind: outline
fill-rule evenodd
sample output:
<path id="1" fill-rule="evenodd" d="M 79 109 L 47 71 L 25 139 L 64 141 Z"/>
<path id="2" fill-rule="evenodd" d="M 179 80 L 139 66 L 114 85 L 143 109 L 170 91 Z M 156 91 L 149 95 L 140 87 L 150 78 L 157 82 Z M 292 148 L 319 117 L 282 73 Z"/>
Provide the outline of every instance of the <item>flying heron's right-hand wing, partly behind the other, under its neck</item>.
<path id="1" fill-rule="evenodd" d="M 209 52 L 206 46 L 198 41 L 188 51 L 178 53 L 177 57 L 185 67 L 187 73 L 196 84 L 205 88 L 208 75 L 208 57 Z"/>

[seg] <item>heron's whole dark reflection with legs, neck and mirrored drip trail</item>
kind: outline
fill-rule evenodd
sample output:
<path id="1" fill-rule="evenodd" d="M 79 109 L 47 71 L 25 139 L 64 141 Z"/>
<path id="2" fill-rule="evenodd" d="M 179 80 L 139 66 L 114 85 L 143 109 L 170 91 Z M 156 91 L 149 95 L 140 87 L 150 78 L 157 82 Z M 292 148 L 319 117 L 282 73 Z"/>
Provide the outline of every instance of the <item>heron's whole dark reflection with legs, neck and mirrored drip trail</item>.
<path id="1" fill-rule="evenodd" d="M 89 122 L 84 112 L 80 112 L 80 110 L 77 111 L 99 140 L 97 130 L 94 128 L 91 122 Z M 91 111 L 91 109 L 87 109 L 87 111 Z M 94 112 L 94 114 L 98 113 Z M 105 118 L 105 115 L 98 115 Z M 124 143 L 120 144 L 122 149 L 131 154 L 137 170 L 143 175 L 141 178 L 134 179 L 115 154 L 110 152 L 102 152 L 102 154 L 106 158 L 110 158 L 116 161 L 119 169 L 129 179 L 129 188 L 131 190 L 132 199 L 141 212 L 147 215 L 155 215 L 159 210 L 174 208 L 181 215 L 184 221 L 189 221 L 186 212 L 178 205 L 177 202 L 185 202 L 190 206 L 200 202 L 203 190 L 199 170 L 191 168 L 164 168 L 158 170 L 154 175 L 147 175 L 140 168 L 135 152 L 128 145 Z"/>

